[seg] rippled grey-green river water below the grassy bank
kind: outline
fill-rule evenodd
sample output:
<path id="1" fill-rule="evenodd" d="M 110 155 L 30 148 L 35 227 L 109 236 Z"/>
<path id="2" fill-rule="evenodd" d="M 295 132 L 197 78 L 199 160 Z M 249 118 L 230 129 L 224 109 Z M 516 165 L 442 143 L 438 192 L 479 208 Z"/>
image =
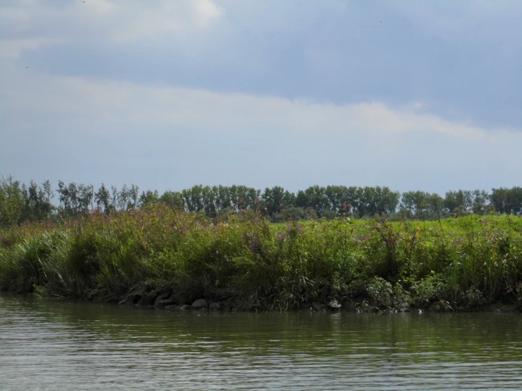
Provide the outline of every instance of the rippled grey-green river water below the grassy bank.
<path id="1" fill-rule="evenodd" d="M 0 296 L 1 390 L 522 389 L 518 313 L 175 313 Z"/>

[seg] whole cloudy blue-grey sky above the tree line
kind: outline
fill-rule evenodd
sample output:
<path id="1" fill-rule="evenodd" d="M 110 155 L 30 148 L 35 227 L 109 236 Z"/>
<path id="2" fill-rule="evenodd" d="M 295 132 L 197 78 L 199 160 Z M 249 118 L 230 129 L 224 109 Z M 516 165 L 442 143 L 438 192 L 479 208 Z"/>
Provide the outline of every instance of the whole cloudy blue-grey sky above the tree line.
<path id="1" fill-rule="evenodd" d="M 3 0 L 0 174 L 522 186 L 520 0 Z"/>

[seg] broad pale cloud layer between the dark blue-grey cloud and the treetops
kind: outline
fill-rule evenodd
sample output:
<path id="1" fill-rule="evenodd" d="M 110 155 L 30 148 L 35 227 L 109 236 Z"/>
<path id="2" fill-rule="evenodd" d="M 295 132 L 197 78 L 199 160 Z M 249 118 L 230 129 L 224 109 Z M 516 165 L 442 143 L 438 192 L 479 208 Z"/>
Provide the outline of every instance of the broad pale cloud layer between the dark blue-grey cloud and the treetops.
<path id="1" fill-rule="evenodd" d="M 522 165 L 522 132 L 451 121 L 417 101 L 289 100 L 47 76 L 8 61 L 0 83 L 0 167 L 23 181 L 444 193 L 513 186 Z"/>

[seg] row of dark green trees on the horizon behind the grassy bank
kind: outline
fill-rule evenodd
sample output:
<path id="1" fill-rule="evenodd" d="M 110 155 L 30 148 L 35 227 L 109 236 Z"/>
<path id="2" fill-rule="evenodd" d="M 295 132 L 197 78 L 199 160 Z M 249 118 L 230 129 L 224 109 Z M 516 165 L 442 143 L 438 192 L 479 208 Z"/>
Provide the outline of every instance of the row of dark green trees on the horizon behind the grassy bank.
<path id="1" fill-rule="evenodd" d="M 176 210 L 201 212 L 208 217 L 227 217 L 242 210 L 255 210 L 273 222 L 325 217 L 390 217 L 391 219 L 437 219 L 470 213 L 522 213 L 522 188 L 399 193 L 384 186 L 310 186 L 293 193 L 280 186 L 263 191 L 247 186 L 192 186 L 182 191 L 147 190 L 135 184 L 105 186 L 49 181 L 28 185 L 12 176 L 0 181 L 0 225 L 78 217 L 98 211 L 110 215 L 163 203 Z"/>

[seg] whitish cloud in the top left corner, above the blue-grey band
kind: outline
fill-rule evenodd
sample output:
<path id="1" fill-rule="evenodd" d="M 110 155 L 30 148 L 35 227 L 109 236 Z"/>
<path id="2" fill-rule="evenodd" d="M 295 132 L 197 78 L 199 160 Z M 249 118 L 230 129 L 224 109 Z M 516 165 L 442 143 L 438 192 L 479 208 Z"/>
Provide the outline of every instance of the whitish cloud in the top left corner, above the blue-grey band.
<path id="1" fill-rule="evenodd" d="M 57 42 L 130 42 L 206 29 L 223 14 L 213 0 L 86 0 L 66 6 L 19 1 L 0 6 L 0 55 Z"/>

